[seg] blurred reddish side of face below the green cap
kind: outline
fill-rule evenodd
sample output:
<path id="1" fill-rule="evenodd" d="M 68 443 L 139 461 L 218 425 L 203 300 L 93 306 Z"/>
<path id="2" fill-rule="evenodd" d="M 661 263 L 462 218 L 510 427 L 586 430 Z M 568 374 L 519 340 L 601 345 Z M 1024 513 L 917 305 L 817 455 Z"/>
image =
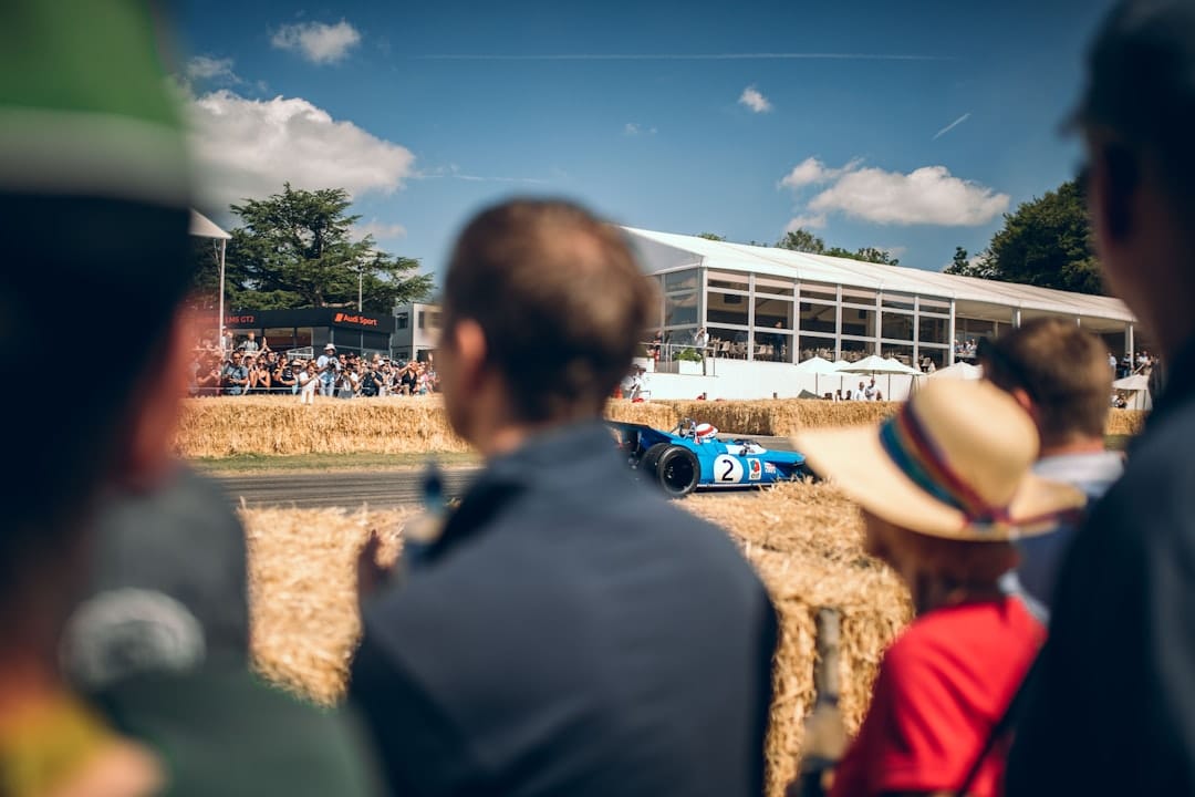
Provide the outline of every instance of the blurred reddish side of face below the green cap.
<path id="1" fill-rule="evenodd" d="M 134 490 L 146 489 L 171 471 L 171 443 L 178 423 L 179 404 L 186 396 L 186 368 L 191 358 L 191 325 L 179 313 L 166 332 L 161 358 L 149 363 L 134 398 L 134 412 L 125 437 L 121 482 Z"/>

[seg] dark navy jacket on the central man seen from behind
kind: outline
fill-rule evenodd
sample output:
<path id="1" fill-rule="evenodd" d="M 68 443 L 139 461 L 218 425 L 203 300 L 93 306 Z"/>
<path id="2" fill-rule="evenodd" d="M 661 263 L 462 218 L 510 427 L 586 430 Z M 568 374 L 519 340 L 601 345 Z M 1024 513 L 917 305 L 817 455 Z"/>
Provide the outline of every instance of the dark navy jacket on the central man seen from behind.
<path id="1" fill-rule="evenodd" d="M 364 613 L 350 698 L 396 795 L 760 795 L 776 614 L 609 431 L 494 460 Z"/>

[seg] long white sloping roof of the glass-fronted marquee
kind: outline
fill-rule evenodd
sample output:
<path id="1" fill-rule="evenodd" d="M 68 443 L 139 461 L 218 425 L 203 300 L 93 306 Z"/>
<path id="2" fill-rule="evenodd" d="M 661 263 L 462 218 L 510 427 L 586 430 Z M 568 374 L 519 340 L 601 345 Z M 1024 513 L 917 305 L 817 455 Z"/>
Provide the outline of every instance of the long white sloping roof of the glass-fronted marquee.
<path id="1" fill-rule="evenodd" d="M 725 271 L 749 271 L 796 277 L 856 288 L 912 293 L 958 302 L 998 305 L 1093 319 L 1135 323 L 1119 299 L 1037 288 L 1011 282 L 962 277 L 902 265 L 865 263 L 842 257 L 809 255 L 770 246 L 715 241 L 695 235 L 624 227 L 649 274 L 704 265 Z"/>

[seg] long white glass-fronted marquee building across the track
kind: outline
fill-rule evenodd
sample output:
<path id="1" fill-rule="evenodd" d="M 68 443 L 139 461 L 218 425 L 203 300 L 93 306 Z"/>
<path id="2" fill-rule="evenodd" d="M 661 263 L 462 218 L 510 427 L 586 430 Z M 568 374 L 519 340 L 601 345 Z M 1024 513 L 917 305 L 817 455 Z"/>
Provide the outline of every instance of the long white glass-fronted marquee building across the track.
<path id="1" fill-rule="evenodd" d="M 792 374 L 791 367 L 813 356 L 856 361 L 880 355 L 917 370 L 930 363 L 944 368 L 970 355 L 969 344 L 979 338 L 1042 315 L 1073 319 L 1099 335 L 1117 358 L 1136 350 L 1135 319 L 1120 300 L 1107 296 L 625 231 L 644 270 L 660 284 L 650 329 L 662 333 L 664 345 L 658 360 L 645 363 L 655 370 L 654 398 L 825 396 L 833 392 L 825 378 Z M 705 373 L 680 374 L 674 355 L 692 347 L 703 326 L 709 335 Z M 903 398 L 912 379 L 897 381 L 887 398 Z"/>

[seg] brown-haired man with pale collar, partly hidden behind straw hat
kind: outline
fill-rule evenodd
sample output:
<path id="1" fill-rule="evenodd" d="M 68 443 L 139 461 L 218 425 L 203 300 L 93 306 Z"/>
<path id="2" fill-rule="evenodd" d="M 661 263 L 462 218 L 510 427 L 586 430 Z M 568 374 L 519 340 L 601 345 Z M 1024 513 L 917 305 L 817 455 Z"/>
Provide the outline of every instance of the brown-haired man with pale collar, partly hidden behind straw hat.
<path id="1" fill-rule="evenodd" d="M 1104 449 L 1113 374 L 1103 341 L 1070 320 L 1035 318 L 980 344 L 983 378 L 1012 394 L 1037 427 L 1042 447 L 1034 473 L 1073 484 L 1089 502 L 1099 498 L 1124 471 L 1120 452 Z M 1074 528 L 1062 523 L 1017 541 L 1019 583 L 1046 612 Z"/>

